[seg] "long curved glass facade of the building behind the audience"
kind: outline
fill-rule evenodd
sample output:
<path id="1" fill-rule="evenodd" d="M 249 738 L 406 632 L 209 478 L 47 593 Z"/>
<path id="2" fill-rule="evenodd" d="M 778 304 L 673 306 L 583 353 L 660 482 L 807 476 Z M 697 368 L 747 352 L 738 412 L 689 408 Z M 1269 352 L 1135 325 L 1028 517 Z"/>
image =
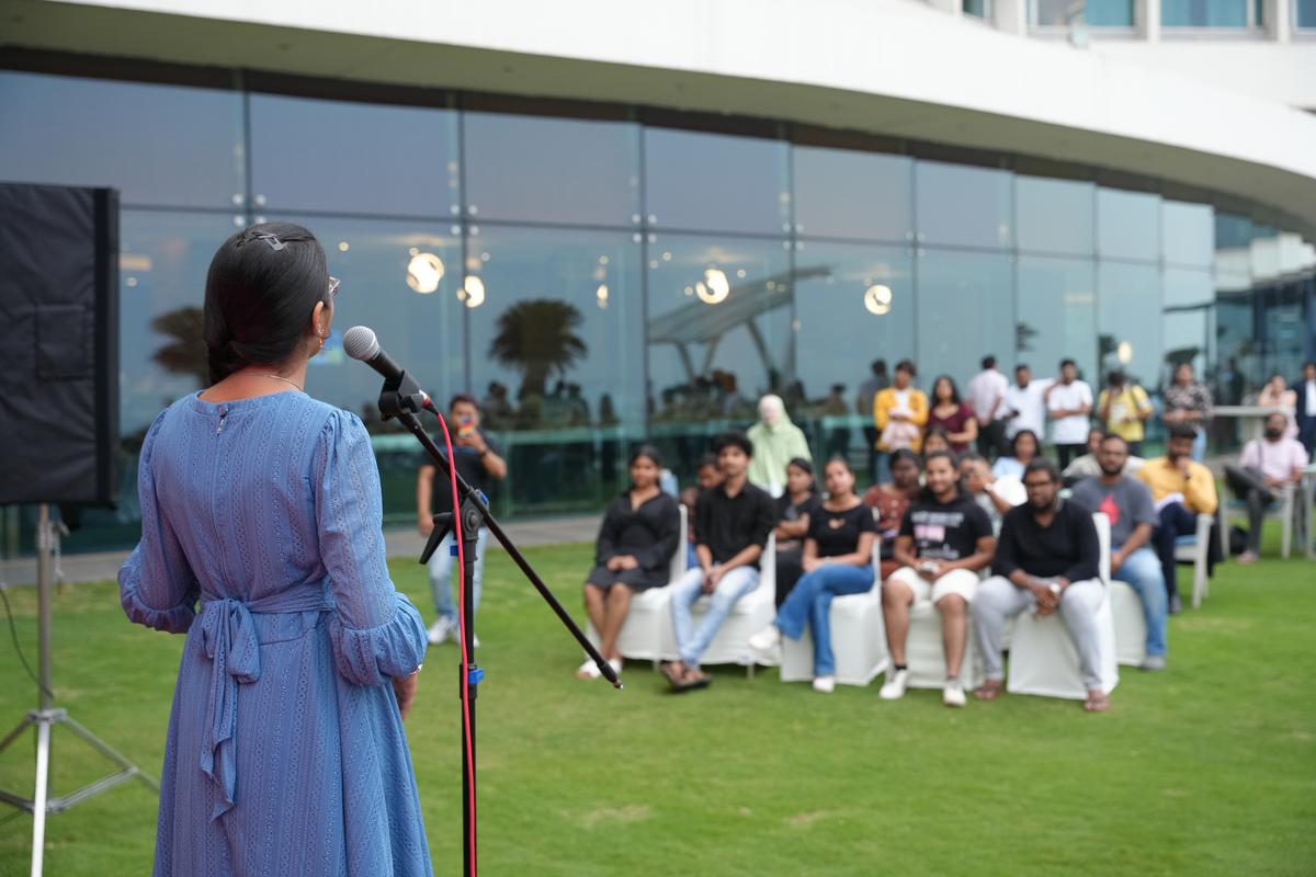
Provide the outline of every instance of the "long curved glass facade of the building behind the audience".
<path id="1" fill-rule="evenodd" d="M 1150 391 L 1192 362 L 1237 400 L 1316 354 L 1304 242 L 1207 204 L 1007 155 L 795 143 L 786 124 L 461 103 L 0 71 L 7 179 L 122 192 L 122 501 L 86 513 L 71 551 L 136 538 L 141 437 L 205 384 L 207 266 L 259 220 L 311 227 L 342 280 L 308 391 L 367 421 L 393 523 L 413 519 L 418 455 L 371 415 L 378 377 L 341 350 L 355 323 L 436 397 L 482 400 L 511 463 L 503 515 L 600 508 L 645 438 L 686 477 L 770 391 L 815 452 L 859 455 L 875 359 L 913 359 L 929 387 L 963 384 L 988 352 L 1041 376 L 1071 356 L 1091 381 L 1121 367 Z M 62 137 L 74 117 L 99 138 Z"/>

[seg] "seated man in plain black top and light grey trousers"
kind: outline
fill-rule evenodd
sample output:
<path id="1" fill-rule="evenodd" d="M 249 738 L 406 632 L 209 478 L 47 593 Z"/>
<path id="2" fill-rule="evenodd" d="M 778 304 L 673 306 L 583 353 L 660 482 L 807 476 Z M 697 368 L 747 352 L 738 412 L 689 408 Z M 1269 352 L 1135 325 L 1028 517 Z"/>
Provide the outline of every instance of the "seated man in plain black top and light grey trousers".
<path id="1" fill-rule="evenodd" d="M 1078 651 L 1087 701 L 1100 713 L 1111 706 L 1101 690 L 1101 644 L 1096 613 L 1104 598 L 1100 544 L 1092 515 L 1059 498 L 1061 473 L 1050 460 L 1033 460 L 1024 471 L 1028 502 L 1005 513 L 996 542 L 991 579 L 978 586 L 974 634 L 986 681 L 974 693 L 991 701 L 1004 690 L 1001 632 L 1008 618 L 1024 610 L 1050 615 L 1059 610 Z"/>

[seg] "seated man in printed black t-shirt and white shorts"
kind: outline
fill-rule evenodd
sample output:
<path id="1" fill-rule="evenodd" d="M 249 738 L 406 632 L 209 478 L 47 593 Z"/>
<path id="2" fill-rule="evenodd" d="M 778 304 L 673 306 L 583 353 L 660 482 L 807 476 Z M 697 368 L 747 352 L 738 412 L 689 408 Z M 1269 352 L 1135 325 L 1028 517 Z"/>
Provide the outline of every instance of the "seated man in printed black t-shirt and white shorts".
<path id="1" fill-rule="evenodd" d="M 924 459 L 923 467 L 923 496 L 905 511 L 896 536 L 896 561 L 901 565 L 882 585 L 892 672 L 880 696 L 887 701 L 904 697 L 909 607 L 916 600 L 930 600 L 941 613 L 946 652 L 941 699 L 946 706 L 963 706 L 959 667 L 969 640 L 969 604 L 978 589 L 978 571 L 991 563 L 996 540 L 987 514 L 959 492 L 954 458 L 937 451 Z"/>

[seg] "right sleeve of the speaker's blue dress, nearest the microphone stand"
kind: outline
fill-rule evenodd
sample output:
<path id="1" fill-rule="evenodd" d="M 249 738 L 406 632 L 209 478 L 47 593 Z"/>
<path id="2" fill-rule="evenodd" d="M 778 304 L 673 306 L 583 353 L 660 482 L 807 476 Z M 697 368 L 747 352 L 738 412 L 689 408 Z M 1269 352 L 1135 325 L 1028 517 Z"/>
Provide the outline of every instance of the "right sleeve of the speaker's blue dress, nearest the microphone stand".
<path id="1" fill-rule="evenodd" d="M 329 621 L 334 665 L 358 685 L 407 676 L 425 656 L 425 623 L 388 577 L 379 468 L 354 414 L 329 417 L 312 479 L 320 557 L 336 605 Z"/>

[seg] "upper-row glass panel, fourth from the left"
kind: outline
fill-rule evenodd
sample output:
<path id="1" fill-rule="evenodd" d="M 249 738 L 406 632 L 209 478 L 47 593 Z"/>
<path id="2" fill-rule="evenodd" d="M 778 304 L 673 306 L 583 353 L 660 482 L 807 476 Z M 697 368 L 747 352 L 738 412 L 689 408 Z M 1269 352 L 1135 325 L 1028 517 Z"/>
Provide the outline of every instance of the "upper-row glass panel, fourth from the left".
<path id="1" fill-rule="evenodd" d="M 780 234 L 790 222 L 782 141 L 645 129 L 645 197 L 666 229 Z"/>

